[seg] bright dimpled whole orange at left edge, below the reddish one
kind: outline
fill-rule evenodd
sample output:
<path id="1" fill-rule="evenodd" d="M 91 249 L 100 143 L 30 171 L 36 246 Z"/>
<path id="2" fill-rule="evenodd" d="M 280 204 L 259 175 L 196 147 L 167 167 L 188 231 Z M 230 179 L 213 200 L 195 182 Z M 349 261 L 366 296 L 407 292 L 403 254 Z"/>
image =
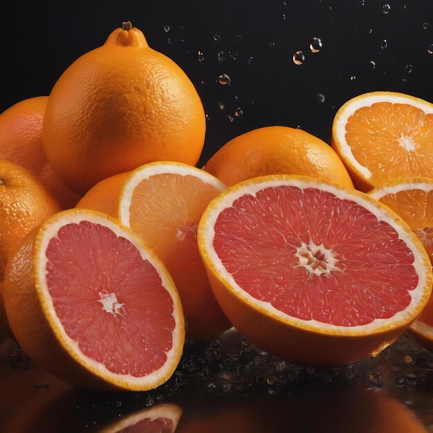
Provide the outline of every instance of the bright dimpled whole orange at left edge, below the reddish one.
<path id="1" fill-rule="evenodd" d="M 61 210 L 33 174 L 0 160 L 0 336 L 11 336 L 4 311 L 3 276 L 8 259 L 30 230 Z"/>

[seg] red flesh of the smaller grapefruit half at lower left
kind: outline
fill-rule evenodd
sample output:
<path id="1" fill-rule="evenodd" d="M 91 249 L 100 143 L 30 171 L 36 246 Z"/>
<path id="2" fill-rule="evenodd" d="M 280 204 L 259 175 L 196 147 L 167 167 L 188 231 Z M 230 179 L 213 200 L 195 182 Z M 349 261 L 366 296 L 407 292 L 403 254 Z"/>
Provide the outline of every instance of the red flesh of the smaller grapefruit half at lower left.
<path id="1" fill-rule="evenodd" d="M 145 252 L 93 221 L 66 223 L 46 243 L 42 284 L 77 349 L 114 374 L 138 378 L 163 367 L 174 302 Z"/>

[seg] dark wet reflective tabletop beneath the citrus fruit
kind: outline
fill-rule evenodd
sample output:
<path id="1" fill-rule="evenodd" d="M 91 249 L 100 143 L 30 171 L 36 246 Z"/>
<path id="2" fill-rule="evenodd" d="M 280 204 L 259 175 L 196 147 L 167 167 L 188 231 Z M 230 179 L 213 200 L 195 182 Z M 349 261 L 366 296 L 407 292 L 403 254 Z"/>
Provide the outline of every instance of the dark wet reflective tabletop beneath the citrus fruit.
<path id="1" fill-rule="evenodd" d="M 433 354 L 409 335 L 376 358 L 313 369 L 282 362 L 229 331 L 210 344 L 187 344 L 172 379 L 140 393 L 77 389 L 18 353 L 1 361 L 0 383 L 4 433 L 160 433 L 177 422 L 176 432 L 189 433 L 433 428 Z"/>

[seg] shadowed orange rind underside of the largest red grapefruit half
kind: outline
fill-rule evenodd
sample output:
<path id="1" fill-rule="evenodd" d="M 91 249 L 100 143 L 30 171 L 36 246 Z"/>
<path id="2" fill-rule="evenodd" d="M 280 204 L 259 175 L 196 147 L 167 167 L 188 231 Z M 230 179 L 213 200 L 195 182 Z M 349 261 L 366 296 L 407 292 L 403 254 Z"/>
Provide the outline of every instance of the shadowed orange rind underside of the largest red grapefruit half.
<path id="1" fill-rule="evenodd" d="M 306 329 L 296 329 L 239 300 L 212 272 L 208 272 L 208 277 L 216 300 L 235 328 L 261 349 L 299 365 L 347 365 L 377 354 L 407 329 L 407 326 L 402 326 L 387 332 L 356 337 L 320 335 Z"/>

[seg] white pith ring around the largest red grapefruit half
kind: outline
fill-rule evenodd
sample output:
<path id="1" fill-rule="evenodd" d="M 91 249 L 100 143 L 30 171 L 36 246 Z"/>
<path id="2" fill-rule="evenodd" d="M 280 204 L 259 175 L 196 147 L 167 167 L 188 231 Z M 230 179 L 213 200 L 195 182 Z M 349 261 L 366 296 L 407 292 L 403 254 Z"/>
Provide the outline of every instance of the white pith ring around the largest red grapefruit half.
<path id="1" fill-rule="evenodd" d="M 271 177 L 271 176 L 270 176 Z M 398 233 L 398 237 L 405 241 L 407 247 L 412 250 L 414 254 L 414 268 L 416 268 L 418 273 L 418 285 L 413 291 L 409 292 L 411 296 L 411 302 L 409 305 L 403 310 L 396 313 L 390 319 L 375 319 L 373 322 L 366 325 L 358 325 L 358 326 L 338 326 L 333 324 L 328 324 L 324 322 L 318 322 L 317 320 L 302 320 L 297 317 L 289 316 L 283 313 L 282 311 L 277 310 L 274 306 L 272 306 L 269 302 L 263 302 L 257 300 L 255 297 L 249 295 L 246 291 L 234 281 L 234 278 L 223 266 L 221 259 L 219 259 L 216 254 L 213 246 L 214 241 L 214 225 L 216 223 L 216 219 L 219 214 L 225 209 L 230 208 L 232 203 L 239 199 L 240 196 L 245 194 L 250 194 L 255 196 L 255 194 L 259 190 L 263 190 L 267 187 L 278 187 L 282 185 L 294 186 L 303 190 L 304 188 L 313 187 L 320 189 L 322 191 L 330 192 L 334 194 L 339 199 L 355 201 L 362 205 L 362 207 L 366 208 L 374 214 L 379 221 L 385 221 L 391 225 L 391 227 L 396 230 Z M 381 208 L 371 201 L 364 199 L 360 195 L 355 195 L 349 192 L 348 190 L 341 190 L 338 187 L 333 185 L 329 185 L 327 183 L 322 183 L 320 185 L 317 184 L 317 181 L 308 182 L 307 180 L 301 180 L 300 178 L 291 178 L 290 180 L 283 181 L 281 178 L 276 180 L 270 179 L 268 181 L 264 180 L 260 183 L 247 183 L 246 185 L 234 189 L 229 194 L 225 194 L 223 197 L 219 197 L 215 199 L 214 206 L 211 206 L 210 212 L 205 212 L 205 222 L 199 225 L 199 242 L 205 243 L 205 254 L 208 255 L 210 261 L 212 262 L 212 266 L 214 267 L 216 275 L 222 275 L 223 278 L 228 282 L 232 291 L 237 297 L 243 299 L 248 304 L 255 306 L 258 310 L 266 311 L 273 317 L 277 317 L 282 322 L 290 322 L 291 324 L 295 324 L 295 326 L 300 326 L 303 329 L 311 329 L 313 331 L 320 331 L 323 333 L 324 331 L 329 331 L 332 334 L 340 334 L 340 335 L 361 335 L 365 333 L 374 332 L 377 329 L 387 329 L 394 328 L 397 323 L 405 324 L 409 323 L 414 318 L 414 312 L 418 309 L 418 305 L 421 302 L 421 298 L 425 297 L 424 286 L 427 281 L 427 273 L 425 268 L 425 261 L 423 261 L 423 255 L 420 255 L 420 246 L 414 243 L 412 238 L 408 237 L 404 228 L 400 227 L 395 223 L 395 216 L 391 211 L 387 211 L 385 208 Z M 202 220 L 203 221 L 203 220 Z M 430 279 L 430 276 L 429 276 Z"/>

